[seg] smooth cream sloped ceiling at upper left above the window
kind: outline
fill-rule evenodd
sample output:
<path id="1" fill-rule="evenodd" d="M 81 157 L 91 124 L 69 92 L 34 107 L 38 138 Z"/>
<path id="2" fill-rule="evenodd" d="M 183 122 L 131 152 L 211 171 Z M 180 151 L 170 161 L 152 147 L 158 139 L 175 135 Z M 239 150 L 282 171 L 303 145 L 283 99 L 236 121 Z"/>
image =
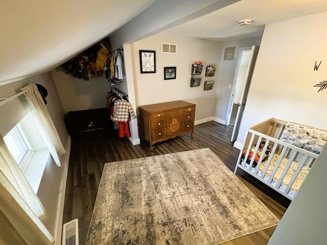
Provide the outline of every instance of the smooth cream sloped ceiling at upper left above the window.
<path id="1" fill-rule="evenodd" d="M 0 85 L 50 71 L 154 2 L 0 1 Z"/>

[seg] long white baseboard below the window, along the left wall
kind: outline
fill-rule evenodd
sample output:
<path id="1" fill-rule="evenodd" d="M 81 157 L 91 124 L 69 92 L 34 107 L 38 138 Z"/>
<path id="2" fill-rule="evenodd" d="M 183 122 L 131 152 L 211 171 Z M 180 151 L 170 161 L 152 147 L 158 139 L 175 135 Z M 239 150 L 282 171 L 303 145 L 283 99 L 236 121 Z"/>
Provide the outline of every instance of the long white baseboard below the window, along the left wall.
<path id="1" fill-rule="evenodd" d="M 67 174 L 68 174 L 68 164 L 69 164 L 69 156 L 71 155 L 71 137 L 68 135 L 67 143 L 66 143 L 66 154 L 64 163 L 61 165 L 64 167 L 62 171 L 62 178 L 60 184 L 60 193 L 59 193 L 59 201 L 57 208 L 57 216 L 56 216 L 56 228 L 54 238 L 56 240 L 56 245 L 61 244 L 61 232 L 62 232 L 62 220 L 63 220 L 63 208 L 65 204 L 65 193 L 66 193 L 66 184 L 67 184 Z"/>

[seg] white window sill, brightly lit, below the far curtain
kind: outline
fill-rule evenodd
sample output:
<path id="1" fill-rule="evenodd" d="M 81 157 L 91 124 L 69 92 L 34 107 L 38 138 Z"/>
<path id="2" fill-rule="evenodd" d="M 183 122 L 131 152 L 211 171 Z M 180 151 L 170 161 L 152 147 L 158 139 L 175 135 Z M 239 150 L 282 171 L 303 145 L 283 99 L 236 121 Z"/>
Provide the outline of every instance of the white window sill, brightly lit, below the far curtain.
<path id="1" fill-rule="evenodd" d="M 35 194 L 40 186 L 45 165 L 48 162 L 49 157 L 50 152 L 48 149 L 34 152 L 31 161 L 28 163 L 28 166 L 24 171 L 24 176 L 30 183 Z"/>

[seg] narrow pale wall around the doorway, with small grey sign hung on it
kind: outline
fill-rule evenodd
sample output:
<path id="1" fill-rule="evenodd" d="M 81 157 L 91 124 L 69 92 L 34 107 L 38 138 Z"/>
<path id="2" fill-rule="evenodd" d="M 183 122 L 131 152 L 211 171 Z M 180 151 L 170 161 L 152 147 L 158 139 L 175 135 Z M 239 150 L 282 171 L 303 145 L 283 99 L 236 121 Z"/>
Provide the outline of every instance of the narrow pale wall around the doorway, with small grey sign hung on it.
<path id="1" fill-rule="evenodd" d="M 261 42 L 261 37 L 253 37 L 253 38 L 244 38 L 233 42 L 227 42 L 224 43 L 223 45 L 223 55 L 226 47 L 236 46 L 236 50 L 233 60 L 224 60 L 224 57 L 222 55 L 220 70 L 218 70 L 219 79 L 216 85 L 217 87 L 219 87 L 219 89 L 217 90 L 215 117 L 219 118 L 219 121 L 222 124 L 226 123 L 226 119 L 228 116 L 228 111 L 229 111 L 228 109 L 229 109 L 230 95 L 231 95 L 231 89 L 228 88 L 228 85 L 230 84 L 231 86 L 233 84 L 239 48 L 248 47 L 252 45 L 260 45 L 260 42 Z"/>

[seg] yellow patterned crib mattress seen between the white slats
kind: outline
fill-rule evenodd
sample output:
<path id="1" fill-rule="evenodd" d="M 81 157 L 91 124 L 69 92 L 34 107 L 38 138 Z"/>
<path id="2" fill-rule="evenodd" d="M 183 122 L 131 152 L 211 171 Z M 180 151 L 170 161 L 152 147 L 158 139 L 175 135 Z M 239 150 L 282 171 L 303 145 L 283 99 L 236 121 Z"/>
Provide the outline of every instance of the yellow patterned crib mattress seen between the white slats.
<path id="1" fill-rule="evenodd" d="M 266 172 L 266 175 L 264 177 L 264 180 L 268 181 L 271 174 L 272 174 L 272 171 L 275 167 L 275 164 L 277 162 L 279 158 L 279 155 L 278 154 L 274 154 L 272 159 L 271 159 L 271 162 L 268 166 L 268 169 L 267 169 L 267 172 Z M 273 185 L 276 185 L 279 178 L 281 178 L 281 175 L 283 173 L 283 170 L 288 162 L 288 158 L 283 158 L 281 163 L 279 164 L 278 168 L 277 168 L 277 171 L 276 171 L 276 174 L 274 175 L 273 177 L 273 180 L 272 180 L 272 184 Z M 259 170 L 258 170 L 258 173 L 256 175 L 258 175 L 259 177 L 262 176 L 262 171 L 264 170 L 265 166 L 266 166 L 267 162 L 266 161 L 263 161 L 260 166 L 259 166 Z M 298 166 L 298 163 L 293 161 L 290 168 L 288 169 L 287 171 L 287 174 L 286 176 L 284 177 L 283 181 L 282 181 L 282 184 L 281 186 L 279 187 L 279 189 L 281 190 L 285 190 L 285 188 L 288 186 L 288 184 L 290 183 L 290 180 L 291 178 L 293 177 L 293 174 L 295 173 L 295 170 Z M 249 164 L 245 164 L 245 167 L 248 168 L 249 167 Z M 251 167 L 250 171 L 252 171 L 252 173 L 254 173 L 255 171 L 255 167 Z M 288 193 L 289 195 L 291 195 L 292 197 L 294 197 L 295 193 L 298 191 L 298 189 L 300 188 L 303 180 L 305 180 L 305 178 L 307 177 L 308 173 L 310 171 L 310 168 L 307 167 L 307 166 L 303 166 L 302 169 L 300 170 L 300 173 L 298 174 L 296 180 L 294 181 L 291 189 L 290 189 L 290 192 Z"/>

